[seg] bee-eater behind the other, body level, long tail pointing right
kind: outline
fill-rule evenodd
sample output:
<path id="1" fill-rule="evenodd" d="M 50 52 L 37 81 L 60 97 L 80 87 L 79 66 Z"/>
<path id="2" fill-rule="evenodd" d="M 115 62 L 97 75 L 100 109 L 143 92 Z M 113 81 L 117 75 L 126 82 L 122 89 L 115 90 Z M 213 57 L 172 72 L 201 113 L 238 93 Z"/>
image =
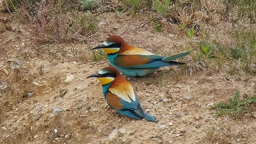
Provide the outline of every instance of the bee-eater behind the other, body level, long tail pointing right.
<path id="1" fill-rule="evenodd" d="M 128 45 L 118 35 L 109 36 L 103 44 L 91 50 L 95 49 L 103 49 L 107 54 L 109 63 L 129 77 L 145 76 L 164 66 L 183 65 L 184 63 L 174 60 L 185 57 L 191 52 L 186 51 L 177 55 L 163 57 Z"/>

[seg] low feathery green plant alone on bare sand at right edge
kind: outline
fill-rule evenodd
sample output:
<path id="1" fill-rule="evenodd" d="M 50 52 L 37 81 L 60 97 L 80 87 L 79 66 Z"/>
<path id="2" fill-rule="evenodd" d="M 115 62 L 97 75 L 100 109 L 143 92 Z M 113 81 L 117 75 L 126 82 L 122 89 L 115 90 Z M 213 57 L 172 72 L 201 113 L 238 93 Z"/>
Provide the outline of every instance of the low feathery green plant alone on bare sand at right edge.
<path id="1" fill-rule="evenodd" d="M 241 114 L 247 113 L 248 105 L 256 103 L 256 97 L 246 97 L 243 99 L 240 98 L 240 93 L 237 92 L 234 97 L 229 99 L 229 103 L 219 102 L 214 106 L 211 106 L 210 109 L 216 109 L 215 117 L 220 115 L 232 115 L 239 116 Z"/>

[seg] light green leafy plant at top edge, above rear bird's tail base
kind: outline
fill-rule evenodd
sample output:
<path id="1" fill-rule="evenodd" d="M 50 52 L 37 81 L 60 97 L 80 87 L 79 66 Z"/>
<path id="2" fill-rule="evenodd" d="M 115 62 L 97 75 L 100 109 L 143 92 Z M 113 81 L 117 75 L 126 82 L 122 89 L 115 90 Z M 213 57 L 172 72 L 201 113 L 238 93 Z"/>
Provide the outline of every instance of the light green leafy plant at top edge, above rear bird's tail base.
<path id="1" fill-rule="evenodd" d="M 152 0 L 152 9 L 165 16 L 169 11 L 170 0 Z"/>

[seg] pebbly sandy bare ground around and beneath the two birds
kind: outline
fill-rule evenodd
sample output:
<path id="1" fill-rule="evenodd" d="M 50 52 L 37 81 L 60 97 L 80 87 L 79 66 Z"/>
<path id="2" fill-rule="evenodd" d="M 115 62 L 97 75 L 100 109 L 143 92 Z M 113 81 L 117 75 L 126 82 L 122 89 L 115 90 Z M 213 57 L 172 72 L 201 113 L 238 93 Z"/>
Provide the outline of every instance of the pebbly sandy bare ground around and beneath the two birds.
<path id="1" fill-rule="evenodd" d="M 2 27 L 3 18 L 8 15 L 1 17 Z M 205 71 L 191 77 L 180 75 L 177 80 L 168 73 L 170 68 L 162 68 L 130 81 L 143 109 L 159 122 L 116 115 L 106 104 L 99 81 L 85 79 L 108 66 L 106 59 L 93 62 L 88 50 L 109 34 L 124 31 L 127 32 L 122 37 L 129 44 L 161 55 L 183 52 L 188 42 L 184 34 L 172 30 L 177 29 L 175 26 L 157 33 L 151 26 L 136 29 L 143 23 L 140 19 L 127 19 L 85 43 L 37 45 L 0 31 L 0 86 L 7 86 L 1 89 L 0 142 L 256 143 L 255 111 L 234 119 L 214 118 L 215 111 L 209 110 L 217 102 L 227 102 L 238 90 L 242 95 L 255 94 L 255 77 L 246 74 L 230 76 L 226 70 Z M 12 69 L 10 65 L 19 68 Z M 167 86 L 156 78 L 163 77 L 164 71 L 168 71 Z M 70 83 L 64 83 L 67 74 L 74 76 Z M 61 97 L 60 92 L 65 95 Z"/>

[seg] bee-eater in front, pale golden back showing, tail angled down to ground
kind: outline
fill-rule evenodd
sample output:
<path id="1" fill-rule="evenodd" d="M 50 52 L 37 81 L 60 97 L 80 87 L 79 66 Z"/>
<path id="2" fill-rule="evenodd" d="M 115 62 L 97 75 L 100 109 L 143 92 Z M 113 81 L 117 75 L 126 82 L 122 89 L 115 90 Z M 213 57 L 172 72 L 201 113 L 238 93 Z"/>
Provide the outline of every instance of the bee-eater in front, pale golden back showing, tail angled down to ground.
<path id="1" fill-rule="evenodd" d="M 130 118 L 158 122 L 156 117 L 145 113 L 142 110 L 137 93 L 131 84 L 112 67 L 105 67 L 98 73 L 88 76 L 96 77 L 102 84 L 103 94 L 108 105 L 118 111 L 120 114 Z"/>

